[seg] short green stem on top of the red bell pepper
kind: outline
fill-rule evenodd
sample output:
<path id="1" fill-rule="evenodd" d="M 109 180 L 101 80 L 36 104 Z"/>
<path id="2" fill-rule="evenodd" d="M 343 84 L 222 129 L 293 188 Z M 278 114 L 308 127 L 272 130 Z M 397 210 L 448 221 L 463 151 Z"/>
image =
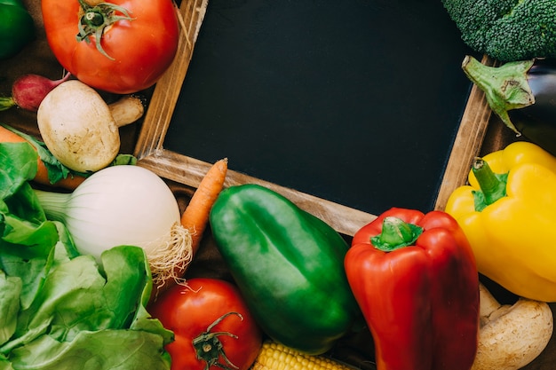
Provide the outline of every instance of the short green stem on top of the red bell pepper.
<path id="1" fill-rule="evenodd" d="M 399 217 L 387 216 L 382 222 L 382 231 L 371 238 L 372 245 L 385 252 L 407 247 L 415 243 L 423 228 L 409 224 Z"/>

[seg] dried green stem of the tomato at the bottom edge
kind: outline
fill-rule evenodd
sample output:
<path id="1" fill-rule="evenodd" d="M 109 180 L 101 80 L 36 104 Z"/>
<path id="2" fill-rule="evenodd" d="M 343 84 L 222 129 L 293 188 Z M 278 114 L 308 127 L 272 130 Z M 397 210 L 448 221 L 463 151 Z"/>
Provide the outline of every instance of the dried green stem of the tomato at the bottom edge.
<path id="1" fill-rule="evenodd" d="M 211 366 L 218 366 L 225 370 L 234 370 L 239 368 L 226 357 L 224 345 L 218 339 L 218 336 L 220 335 L 231 336 L 232 338 L 237 338 L 237 335 L 228 332 L 211 332 L 213 327 L 216 327 L 223 319 L 226 319 L 226 317 L 230 315 L 237 315 L 240 319 L 243 319 L 241 313 L 227 312 L 218 319 L 214 320 L 214 322 L 210 324 L 210 326 L 207 327 L 201 335 L 195 337 L 192 341 L 197 359 L 205 361 L 206 365 L 204 370 L 209 370 Z M 218 361 L 220 357 L 224 358 L 226 364 L 222 364 Z"/>

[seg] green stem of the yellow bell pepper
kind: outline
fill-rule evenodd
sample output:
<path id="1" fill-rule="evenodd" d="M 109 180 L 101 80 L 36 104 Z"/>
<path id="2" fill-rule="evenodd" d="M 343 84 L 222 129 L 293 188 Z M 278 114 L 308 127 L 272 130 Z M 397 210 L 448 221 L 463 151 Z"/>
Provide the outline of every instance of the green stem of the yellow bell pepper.
<path id="1" fill-rule="evenodd" d="M 473 161 L 472 170 L 481 187 L 481 192 L 474 192 L 475 210 L 481 211 L 495 201 L 504 198 L 506 195 L 505 178 L 507 177 L 505 174 L 496 176 L 488 162 L 479 157 Z"/>

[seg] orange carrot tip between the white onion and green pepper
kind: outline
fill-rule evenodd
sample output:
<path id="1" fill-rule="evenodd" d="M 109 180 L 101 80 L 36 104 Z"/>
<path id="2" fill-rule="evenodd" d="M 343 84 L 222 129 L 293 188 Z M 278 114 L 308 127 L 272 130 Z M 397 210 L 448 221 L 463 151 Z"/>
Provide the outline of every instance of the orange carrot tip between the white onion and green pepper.
<path id="1" fill-rule="evenodd" d="M 193 253 L 197 251 L 209 214 L 226 180 L 227 158 L 216 161 L 207 171 L 181 215 L 181 225 L 191 233 Z"/>

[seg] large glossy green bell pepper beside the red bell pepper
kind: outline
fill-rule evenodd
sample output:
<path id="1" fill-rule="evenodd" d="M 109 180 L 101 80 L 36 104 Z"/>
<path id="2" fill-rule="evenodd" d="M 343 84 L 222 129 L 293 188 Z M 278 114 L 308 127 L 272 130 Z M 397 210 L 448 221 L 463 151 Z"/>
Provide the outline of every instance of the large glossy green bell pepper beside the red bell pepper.
<path id="1" fill-rule="evenodd" d="M 250 312 L 274 341 L 321 354 L 362 317 L 343 267 L 346 240 L 282 195 L 229 187 L 210 225 Z"/>

